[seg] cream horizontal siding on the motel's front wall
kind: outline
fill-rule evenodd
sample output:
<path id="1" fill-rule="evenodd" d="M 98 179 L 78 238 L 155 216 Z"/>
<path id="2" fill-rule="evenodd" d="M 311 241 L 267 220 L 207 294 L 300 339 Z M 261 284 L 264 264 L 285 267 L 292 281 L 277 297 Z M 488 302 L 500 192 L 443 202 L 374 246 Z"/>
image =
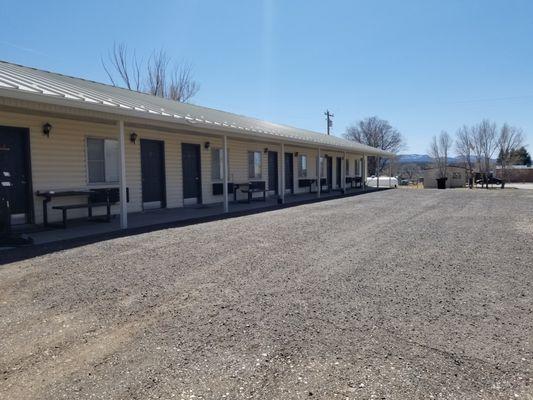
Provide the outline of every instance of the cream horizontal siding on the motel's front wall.
<path id="1" fill-rule="evenodd" d="M 14 106 L 14 105 L 13 105 Z M 59 118 L 57 116 L 47 115 L 47 109 L 43 109 L 39 115 L 32 115 L 24 110 L 19 112 L 0 111 L 0 125 L 27 127 L 30 130 L 31 143 L 31 175 L 32 175 L 32 189 L 34 193 L 34 215 L 35 222 L 42 222 L 42 197 L 36 196 L 35 192 L 45 190 L 65 190 L 65 189 L 87 189 L 95 187 L 117 187 L 118 186 L 118 167 L 111 160 L 114 158 L 117 150 L 113 150 L 114 145 L 118 146 L 118 128 L 115 124 L 106 124 L 84 120 L 80 116 L 71 118 Z M 43 120 L 49 121 L 53 125 L 50 137 L 43 135 L 42 124 Z M 212 157 L 213 149 L 222 149 L 223 143 L 221 138 L 211 136 L 203 136 L 201 134 L 190 134 L 187 132 L 172 131 L 166 132 L 162 129 L 149 129 L 147 127 L 139 127 L 135 130 L 139 135 L 139 139 L 153 139 L 162 140 L 165 142 L 165 178 L 166 178 L 166 203 L 168 208 L 183 206 L 183 171 L 182 171 L 182 155 L 181 144 L 193 143 L 202 146 L 201 150 L 201 181 L 202 181 L 202 203 L 214 204 L 219 203 L 222 199 L 221 195 L 213 194 L 213 167 L 212 163 L 215 161 Z M 128 135 L 128 132 L 126 132 Z M 89 183 L 89 154 L 87 139 L 100 139 L 100 143 L 105 140 L 110 141 L 111 144 L 104 145 L 104 156 L 102 160 L 101 147 L 98 157 L 90 157 L 94 163 L 100 166 L 103 165 L 104 180 L 100 183 Z M 209 141 L 211 146 L 205 149 L 205 142 Z M 128 212 L 142 211 L 142 179 L 141 179 L 141 155 L 139 140 L 137 143 L 132 143 L 130 140 L 125 141 L 125 156 L 126 156 L 126 183 L 129 189 L 129 201 L 127 202 Z M 100 145 L 101 146 L 101 145 Z M 228 181 L 243 183 L 250 180 L 249 178 L 249 154 L 256 153 L 254 157 L 260 159 L 260 162 L 254 162 L 254 176 L 260 176 L 261 180 L 268 181 L 268 157 L 265 156 L 265 144 L 253 140 L 233 139 L 228 138 Z M 270 144 L 268 150 L 278 152 L 278 174 L 281 176 L 282 162 L 284 160 L 281 148 L 279 145 Z M 307 156 L 307 178 L 317 176 L 317 165 L 315 162 L 318 151 L 316 148 L 305 146 L 285 145 L 286 153 L 299 153 L 299 155 Z M 259 154 L 257 154 L 259 153 Z M 327 151 L 332 156 L 342 156 L 338 152 Z M 324 153 L 322 153 L 324 154 Z M 220 154 L 222 155 L 222 153 Z M 220 157 L 219 157 L 220 158 Z M 222 157 L 223 158 L 223 157 Z M 294 177 L 294 192 L 308 193 L 307 187 L 299 187 L 298 185 L 298 165 L 299 157 L 295 157 L 293 164 Z M 353 176 L 355 163 L 360 163 L 358 166 L 361 171 L 361 155 L 348 153 L 346 159 L 349 159 L 351 164 L 350 175 Z M 259 161 L 259 160 L 257 160 Z M 106 167 L 107 165 L 107 167 Z M 113 169 L 111 165 L 115 165 Z M 220 164 L 219 164 L 220 165 Z M 333 168 L 335 167 L 335 163 Z M 221 167 L 219 167 L 221 168 Z M 324 168 L 324 167 L 323 167 Z M 222 168 L 221 168 L 222 170 Z M 257 173 L 257 174 L 256 174 Z M 91 174 L 92 175 L 92 174 Z M 97 175 L 97 174 L 95 174 Z M 325 177 L 322 173 L 322 177 Z M 102 172 L 98 172 L 101 179 Z M 220 175 L 222 178 L 222 175 Z M 100 180 L 96 179 L 95 180 Z M 258 179 L 258 178 L 253 178 Z M 115 182 L 107 182 L 107 181 Z M 281 179 L 279 179 L 281 184 Z M 86 200 L 86 197 L 79 198 L 54 198 L 53 205 L 72 204 L 72 202 L 80 202 Z M 113 214 L 118 213 L 119 204 L 112 207 Z M 105 213 L 105 208 L 94 209 L 95 215 Z M 69 212 L 69 217 L 82 218 L 86 217 L 87 210 L 72 210 Z M 48 208 L 48 217 L 50 222 L 61 220 L 61 211 Z"/>

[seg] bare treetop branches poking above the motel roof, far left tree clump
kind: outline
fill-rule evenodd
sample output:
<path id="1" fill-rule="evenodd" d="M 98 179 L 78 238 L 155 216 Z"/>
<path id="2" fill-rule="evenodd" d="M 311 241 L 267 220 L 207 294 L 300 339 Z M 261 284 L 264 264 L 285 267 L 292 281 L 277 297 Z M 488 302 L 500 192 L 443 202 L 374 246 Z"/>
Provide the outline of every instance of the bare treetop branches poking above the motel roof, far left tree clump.
<path id="1" fill-rule="evenodd" d="M 164 51 L 154 51 L 144 63 L 130 54 L 124 43 L 113 45 L 102 65 L 113 86 L 122 84 L 167 99 L 186 102 L 198 93 L 200 85 L 194 80 L 192 68 L 186 63 L 173 63 Z"/>

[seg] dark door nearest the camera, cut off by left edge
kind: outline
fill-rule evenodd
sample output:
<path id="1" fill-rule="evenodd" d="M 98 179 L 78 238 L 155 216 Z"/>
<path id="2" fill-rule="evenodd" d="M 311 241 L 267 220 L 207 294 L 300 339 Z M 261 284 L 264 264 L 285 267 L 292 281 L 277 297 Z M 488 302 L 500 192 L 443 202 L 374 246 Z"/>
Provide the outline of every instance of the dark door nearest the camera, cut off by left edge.
<path id="1" fill-rule="evenodd" d="M 0 174 L 9 201 L 11 222 L 27 223 L 31 216 L 29 131 L 0 126 Z M 7 185 L 7 184 L 5 184 Z"/>

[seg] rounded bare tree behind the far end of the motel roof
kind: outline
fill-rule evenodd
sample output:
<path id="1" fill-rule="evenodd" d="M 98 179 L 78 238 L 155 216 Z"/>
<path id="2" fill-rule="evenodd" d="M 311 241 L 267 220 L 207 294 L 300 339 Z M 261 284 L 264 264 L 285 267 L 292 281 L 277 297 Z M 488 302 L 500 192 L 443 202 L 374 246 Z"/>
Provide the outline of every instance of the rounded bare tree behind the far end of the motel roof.
<path id="1" fill-rule="evenodd" d="M 346 128 L 344 137 L 358 143 L 376 147 L 391 153 L 398 153 L 404 145 L 402 135 L 386 120 L 377 116 L 369 117 Z M 376 165 L 377 157 L 368 158 L 368 172 L 370 175 L 379 175 L 387 164 L 386 159 L 381 159 Z"/>

